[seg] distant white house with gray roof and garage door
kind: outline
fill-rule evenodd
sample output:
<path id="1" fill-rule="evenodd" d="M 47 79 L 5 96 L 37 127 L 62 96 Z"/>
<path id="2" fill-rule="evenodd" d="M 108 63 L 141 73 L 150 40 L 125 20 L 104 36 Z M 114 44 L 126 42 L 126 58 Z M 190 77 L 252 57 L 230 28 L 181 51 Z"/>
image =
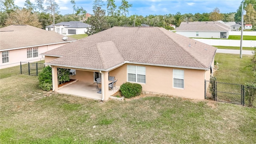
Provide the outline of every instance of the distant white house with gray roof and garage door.
<path id="1" fill-rule="evenodd" d="M 90 24 L 79 21 L 60 22 L 55 24 L 55 32 L 58 34 L 85 34 L 92 28 Z M 46 26 L 45 30 L 53 30 L 53 25 Z"/>

